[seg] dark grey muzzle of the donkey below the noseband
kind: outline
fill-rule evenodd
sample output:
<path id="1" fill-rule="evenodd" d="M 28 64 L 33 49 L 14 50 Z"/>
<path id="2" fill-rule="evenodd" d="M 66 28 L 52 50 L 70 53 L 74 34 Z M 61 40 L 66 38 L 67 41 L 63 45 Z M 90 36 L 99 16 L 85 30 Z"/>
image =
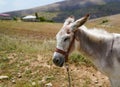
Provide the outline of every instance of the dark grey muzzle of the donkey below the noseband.
<path id="1" fill-rule="evenodd" d="M 61 54 L 54 54 L 53 56 L 53 63 L 56 65 L 56 66 L 59 66 L 59 67 L 62 67 L 64 65 L 64 62 L 65 62 L 65 58 L 63 55 Z"/>

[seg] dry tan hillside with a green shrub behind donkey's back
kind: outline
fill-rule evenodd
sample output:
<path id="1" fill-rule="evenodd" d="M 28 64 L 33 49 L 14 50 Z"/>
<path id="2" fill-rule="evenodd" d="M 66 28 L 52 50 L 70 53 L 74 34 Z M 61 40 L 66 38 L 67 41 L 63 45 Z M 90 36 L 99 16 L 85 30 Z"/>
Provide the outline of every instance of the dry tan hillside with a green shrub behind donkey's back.
<path id="1" fill-rule="evenodd" d="M 90 28 L 97 27 L 107 30 L 108 32 L 120 33 L 120 14 L 105 16 L 97 19 L 92 19 L 88 22 Z"/>

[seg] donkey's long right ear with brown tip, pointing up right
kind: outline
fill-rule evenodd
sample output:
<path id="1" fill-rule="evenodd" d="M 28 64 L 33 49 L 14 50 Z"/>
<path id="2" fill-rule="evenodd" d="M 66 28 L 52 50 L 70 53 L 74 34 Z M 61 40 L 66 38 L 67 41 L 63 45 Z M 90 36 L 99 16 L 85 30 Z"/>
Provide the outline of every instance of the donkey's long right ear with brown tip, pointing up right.
<path id="1" fill-rule="evenodd" d="M 82 26 L 88 20 L 88 18 L 89 18 L 89 14 L 85 15 L 84 17 L 78 19 L 73 24 L 71 24 L 72 31 L 76 31 L 76 29 L 78 29 L 78 27 Z"/>

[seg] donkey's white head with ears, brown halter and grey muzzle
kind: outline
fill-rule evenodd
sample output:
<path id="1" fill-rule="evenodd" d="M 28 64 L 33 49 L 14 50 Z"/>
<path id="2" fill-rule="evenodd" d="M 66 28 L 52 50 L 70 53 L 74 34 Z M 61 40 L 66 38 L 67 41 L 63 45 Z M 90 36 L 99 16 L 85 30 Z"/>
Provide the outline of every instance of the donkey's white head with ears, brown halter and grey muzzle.
<path id="1" fill-rule="evenodd" d="M 89 15 L 86 15 L 74 21 L 74 17 L 71 16 L 65 20 L 63 27 L 56 35 L 57 50 L 53 55 L 55 65 L 62 67 L 64 62 L 67 61 L 66 58 L 69 55 L 69 51 L 72 51 L 73 48 L 71 43 L 74 41 L 74 32 L 87 21 L 88 17 Z"/>

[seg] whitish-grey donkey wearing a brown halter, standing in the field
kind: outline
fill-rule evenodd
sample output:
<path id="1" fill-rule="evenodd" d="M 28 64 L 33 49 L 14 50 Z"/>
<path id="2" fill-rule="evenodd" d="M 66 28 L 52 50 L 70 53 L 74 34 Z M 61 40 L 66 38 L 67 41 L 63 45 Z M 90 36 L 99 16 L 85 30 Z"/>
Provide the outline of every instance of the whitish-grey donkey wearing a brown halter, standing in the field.
<path id="1" fill-rule="evenodd" d="M 100 29 L 87 29 L 83 24 L 89 15 L 74 22 L 66 19 L 57 33 L 57 47 L 53 55 L 55 65 L 62 67 L 68 55 L 77 48 L 83 56 L 109 77 L 112 87 L 120 87 L 120 34 Z"/>

